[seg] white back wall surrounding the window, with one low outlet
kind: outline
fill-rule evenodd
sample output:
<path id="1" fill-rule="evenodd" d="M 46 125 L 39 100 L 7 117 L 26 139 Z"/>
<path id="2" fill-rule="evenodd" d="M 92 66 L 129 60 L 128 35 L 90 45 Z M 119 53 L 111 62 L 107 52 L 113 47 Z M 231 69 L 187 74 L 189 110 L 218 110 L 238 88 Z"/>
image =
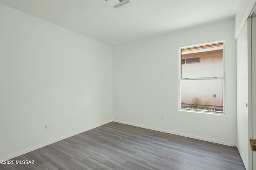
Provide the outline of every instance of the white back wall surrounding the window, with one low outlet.
<path id="1" fill-rule="evenodd" d="M 227 42 L 226 115 L 178 111 L 179 47 L 220 40 Z M 234 20 L 115 46 L 113 89 L 114 121 L 236 146 Z"/>

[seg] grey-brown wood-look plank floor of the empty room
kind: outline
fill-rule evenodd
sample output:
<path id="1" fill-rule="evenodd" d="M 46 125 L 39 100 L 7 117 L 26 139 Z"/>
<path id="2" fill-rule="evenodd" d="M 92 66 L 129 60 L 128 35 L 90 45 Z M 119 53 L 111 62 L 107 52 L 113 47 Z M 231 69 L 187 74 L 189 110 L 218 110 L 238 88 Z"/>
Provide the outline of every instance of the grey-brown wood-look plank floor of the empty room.
<path id="1" fill-rule="evenodd" d="M 245 170 L 236 147 L 108 123 L 0 165 L 1 170 Z"/>

